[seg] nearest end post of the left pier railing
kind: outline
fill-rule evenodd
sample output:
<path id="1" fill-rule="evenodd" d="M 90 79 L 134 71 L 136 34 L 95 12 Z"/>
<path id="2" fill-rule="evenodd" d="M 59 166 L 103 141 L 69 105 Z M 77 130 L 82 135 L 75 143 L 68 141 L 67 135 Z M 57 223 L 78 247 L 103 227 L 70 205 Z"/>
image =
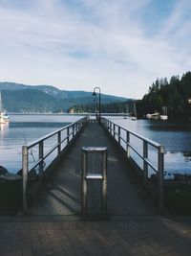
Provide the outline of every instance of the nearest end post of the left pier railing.
<path id="1" fill-rule="evenodd" d="M 28 211 L 28 166 L 29 154 L 27 146 L 22 147 L 22 175 L 23 175 L 23 213 Z"/>

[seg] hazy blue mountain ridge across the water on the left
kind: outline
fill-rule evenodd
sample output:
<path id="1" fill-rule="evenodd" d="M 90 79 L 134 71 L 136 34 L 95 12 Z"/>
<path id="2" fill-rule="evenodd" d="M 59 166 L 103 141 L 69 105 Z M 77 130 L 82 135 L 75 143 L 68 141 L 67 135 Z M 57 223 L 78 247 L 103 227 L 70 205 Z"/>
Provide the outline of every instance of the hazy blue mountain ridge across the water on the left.
<path id="1" fill-rule="evenodd" d="M 27 85 L 1 81 L 3 104 L 10 112 L 59 112 L 73 105 L 93 105 L 92 92 L 60 90 L 53 85 Z M 129 99 L 101 94 L 101 103 L 125 102 Z"/>

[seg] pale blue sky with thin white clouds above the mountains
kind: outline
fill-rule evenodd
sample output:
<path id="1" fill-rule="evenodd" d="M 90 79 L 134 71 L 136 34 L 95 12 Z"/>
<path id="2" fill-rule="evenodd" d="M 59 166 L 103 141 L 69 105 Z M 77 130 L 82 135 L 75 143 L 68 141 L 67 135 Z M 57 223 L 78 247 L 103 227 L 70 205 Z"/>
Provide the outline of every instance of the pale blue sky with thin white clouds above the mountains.
<path id="1" fill-rule="evenodd" d="M 190 0 L 0 0 L 0 81 L 141 99 L 191 70 Z"/>

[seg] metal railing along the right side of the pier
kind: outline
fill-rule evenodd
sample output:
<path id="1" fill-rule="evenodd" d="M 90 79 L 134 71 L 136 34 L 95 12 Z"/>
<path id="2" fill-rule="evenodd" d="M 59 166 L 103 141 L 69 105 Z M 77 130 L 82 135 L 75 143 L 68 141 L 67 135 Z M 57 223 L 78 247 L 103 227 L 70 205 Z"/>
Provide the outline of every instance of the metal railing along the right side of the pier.
<path id="1" fill-rule="evenodd" d="M 131 158 L 134 163 L 137 164 L 135 159 L 131 156 L 131 151 L 134 151 L 139 158 L 143 161 L 143 168 L 141 171 L 143 172 L 143 179 L 144 183 L 147 183 L 148 181 L 148 168 L 150 167 L 154 173 L 158 176 L 158 191 L 159 191 L 159 208 L 163 208 L 163 172 L 164 172 L 164 148 L 159 143 L 152 141 L 150 139 L 147 139 L 138 133 L 128 130 L 126 128 L 119 127 L 117 124 L 113 123 L 112 121 L 101 118 L 101 124 L 104 128 L 107 129 L 107 131 L 114 137 L 114 139 L 117 141 L 118 145 L 126 152 L 127 158 Z M 138 140 L 142 141 L 142 152 L 138 151 L 131 142 L 131 136 L 136 137 Z M 122 143 L 125 145 L 122 146 Z M 148 158 L 148 148 L 153 147 L 157 150 L 157 166 L 155 166 Z M 138 164 L 137 164 L 138 165 Z"/>

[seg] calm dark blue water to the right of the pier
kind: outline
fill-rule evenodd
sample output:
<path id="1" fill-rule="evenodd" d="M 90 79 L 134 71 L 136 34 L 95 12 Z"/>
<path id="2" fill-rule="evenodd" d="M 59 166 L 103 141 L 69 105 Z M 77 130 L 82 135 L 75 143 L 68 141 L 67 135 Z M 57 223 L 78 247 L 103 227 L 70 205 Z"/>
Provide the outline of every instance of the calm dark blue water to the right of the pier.
<path id="1" fill-rule="evenodd" d="M 191 123 L 175 123 L 156 120 L 132 121 L 119 117 L 109 118 L 117 125 L 128 128 L 164 146 L 166 178 L 173 174 L 191 174 Z M 142 146 L 138 144 L 142 149 Z M 139 149 L 141 151 L 141 149 Z M 150 149 L 155 162 L 156 153 Z M 157 158 L 156 158 L 157 160 Z"/>

